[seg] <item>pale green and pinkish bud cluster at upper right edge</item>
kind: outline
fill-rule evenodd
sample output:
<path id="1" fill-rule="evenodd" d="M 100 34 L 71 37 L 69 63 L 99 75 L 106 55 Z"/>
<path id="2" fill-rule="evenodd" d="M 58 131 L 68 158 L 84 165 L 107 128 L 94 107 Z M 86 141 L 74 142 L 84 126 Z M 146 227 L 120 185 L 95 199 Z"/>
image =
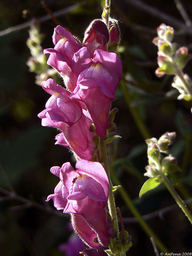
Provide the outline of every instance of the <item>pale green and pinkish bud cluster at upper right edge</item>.
<path id="1" fill-rule="evenodd" d="M 187 84 L 187 87 L 191 88 L 191 79 L 187 74 L 183 75 L 182 73 L 182 69 L 191 58 L 188 54 L 188 49 L 172 43 L 174 30 L 170 26 L 161 24 L 157 28 L 157 34 L 158 36 L 153 39 L 153 43 L 158 47 L 157 62 L 159 67 L 156 69 L 156 75 L 159 77 L 165 74 L 175 75 L 172 86 L 180 92 L 178 99 L 191 100 L 185 85 Z M 180 79 L 180 76 L 183 77 L 183 81 Z"/>

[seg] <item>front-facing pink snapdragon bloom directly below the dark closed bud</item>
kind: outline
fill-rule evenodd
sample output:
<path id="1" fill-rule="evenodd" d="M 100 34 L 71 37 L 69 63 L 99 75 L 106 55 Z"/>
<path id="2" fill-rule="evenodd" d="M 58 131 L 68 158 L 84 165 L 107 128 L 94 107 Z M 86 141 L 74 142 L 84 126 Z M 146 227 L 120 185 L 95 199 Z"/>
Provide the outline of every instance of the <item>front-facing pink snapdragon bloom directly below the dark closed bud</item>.
<path id="1" fill-rule="evenodd" d="M 95 125 L 95 132 L 105 137 L 110 124 L 110 102 L 115 99 L 122 75 L 121 60 L 114 52 L 96 50 L 93 58 L 86 47 L 74 54 L 72 69 L 78 76 L 71 98 L 84 102 Z"/>

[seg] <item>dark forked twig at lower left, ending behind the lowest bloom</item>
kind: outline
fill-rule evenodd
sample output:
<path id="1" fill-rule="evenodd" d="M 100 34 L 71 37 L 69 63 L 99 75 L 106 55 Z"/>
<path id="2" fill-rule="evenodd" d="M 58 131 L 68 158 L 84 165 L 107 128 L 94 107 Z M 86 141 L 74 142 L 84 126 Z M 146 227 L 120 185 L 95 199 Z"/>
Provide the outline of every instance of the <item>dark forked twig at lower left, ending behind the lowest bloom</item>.
<path id="1" fill-rule="evenodd" d="M 57 215 L 57 216 L 60 216 L 60 217 L 68 217 L 68 214 L 64 214 L 62 212 L 53 210 L 49 206 L 49 204 L 47 204 L 47 206 L 44 206 L 42 204 L 39 204 L 39 203 L 35 202 L 34 200 L 30 200 L 30 199 L 25 198 L 23 196 L 19 196 L 17 193 L 8 191 L 8 190 L 6 190 L 4 188 L 1 188 L 1 187 L 0 187 L 0 192 L 3 193 L 4 195 L 6 195 L 4 197 L 1 197 L 1 199 L 5 198 L 4 201 L 12 199 L 12 200 L 17 200 L 17 201 L 23 203 L 23 205 L 10 207 L 10 210 L 12 210 L 12 211 L 13 210 L 18 211 L 18 210 L 26 209 L 26 208 L 29 208 L 29 207 L 34 207 L 34 208 L 37 208 L 41 211 L 48 212 L 50 214 L 54 214 L 54 215 Z"/>

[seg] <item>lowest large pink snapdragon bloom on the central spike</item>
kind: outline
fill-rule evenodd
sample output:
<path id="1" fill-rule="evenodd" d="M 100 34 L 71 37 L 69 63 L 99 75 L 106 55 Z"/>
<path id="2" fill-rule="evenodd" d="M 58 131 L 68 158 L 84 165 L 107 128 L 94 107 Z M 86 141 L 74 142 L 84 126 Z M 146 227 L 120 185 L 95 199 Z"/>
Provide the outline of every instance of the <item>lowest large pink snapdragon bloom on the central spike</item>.
<path id="1" fill-rule="evenodd" d="M 76 171 L 70 163 L 65 163 L 61 168 L 52 167 L 51 172 L 60 177 L 60 182 L 47 201 L 52 199 L 57 210 L 71 213 L 74 229 L 90 247 L 108 246 L 111 227 L 105 206 L 109 182 L 103 166 L 81 159 L 76 163 Z"/>

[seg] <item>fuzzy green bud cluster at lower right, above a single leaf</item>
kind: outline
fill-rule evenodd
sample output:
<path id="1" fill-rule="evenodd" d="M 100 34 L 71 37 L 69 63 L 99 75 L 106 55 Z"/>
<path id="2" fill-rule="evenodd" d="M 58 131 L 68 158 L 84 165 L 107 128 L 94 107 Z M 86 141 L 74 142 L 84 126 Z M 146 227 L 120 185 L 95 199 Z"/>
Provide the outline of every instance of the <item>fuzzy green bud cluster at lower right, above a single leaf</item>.
<path id="1" fill-rule="evenodd" d="M 154 178 L 156 176 L 161 176 L 162 173 L 168 175 L 170 172 L 175 172 L 179 170 L 177 164 L 177 159 L 172 155 L 165 156 L 162 154 L 168 154 L 169 148 L 176 137 L 175 132 L 165 132 L 158 140 L 156 138 L 151 138 L 146 140 L 148 145 L 148 163 L 145 167 L 145 176 L 149 178 Z"/>

